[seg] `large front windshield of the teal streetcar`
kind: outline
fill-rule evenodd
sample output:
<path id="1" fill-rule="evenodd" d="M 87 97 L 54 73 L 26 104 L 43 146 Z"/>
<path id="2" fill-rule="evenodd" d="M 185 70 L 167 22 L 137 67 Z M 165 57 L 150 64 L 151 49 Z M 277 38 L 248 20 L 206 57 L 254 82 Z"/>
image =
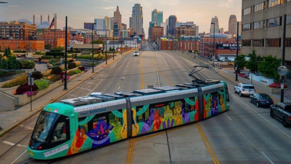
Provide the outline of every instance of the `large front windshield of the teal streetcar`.
<path id="1" fill-rule="evenodd" d="M 36 122 L 36 127 L 34 128 L 32 138 L 39 142 L 45 142 L 52 126 L 54 125 L 54 122 L 58 118 L 58 115 L 59 114 L 50 113 L 43 110 Z"/>

